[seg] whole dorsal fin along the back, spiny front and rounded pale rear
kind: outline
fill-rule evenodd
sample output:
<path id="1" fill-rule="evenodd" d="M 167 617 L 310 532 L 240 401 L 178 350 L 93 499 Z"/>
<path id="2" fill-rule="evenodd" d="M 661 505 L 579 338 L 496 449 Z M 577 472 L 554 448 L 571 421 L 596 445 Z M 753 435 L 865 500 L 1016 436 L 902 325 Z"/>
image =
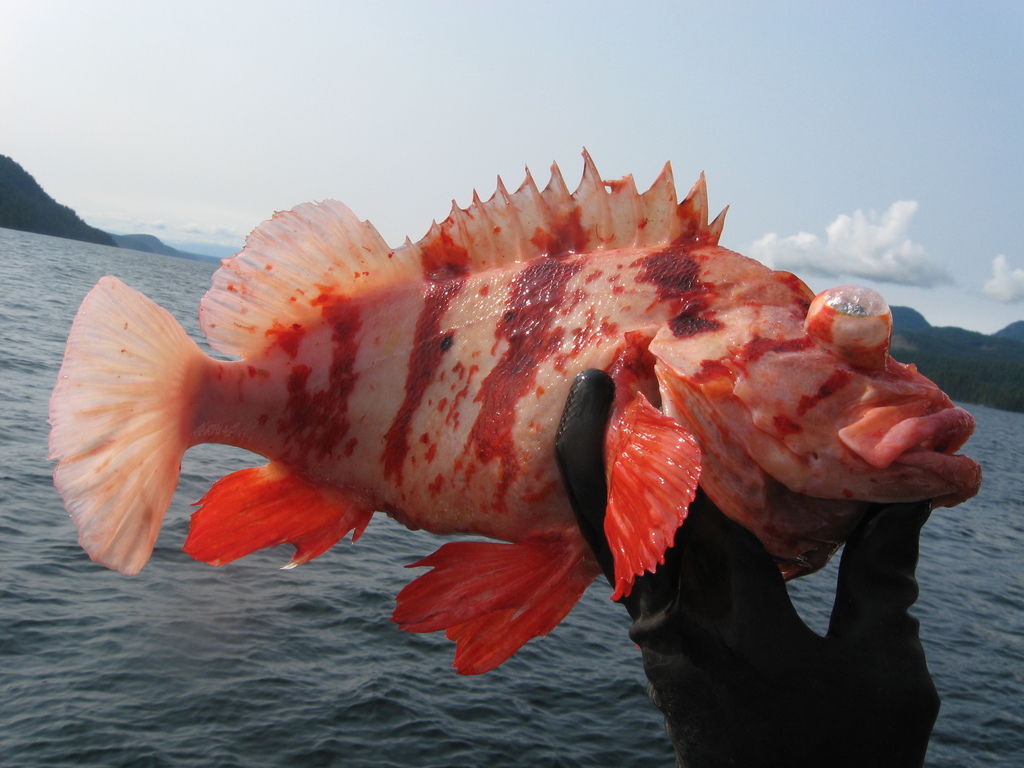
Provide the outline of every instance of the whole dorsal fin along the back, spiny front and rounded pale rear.
<path id="1" fill-rule="evenodd" d="M 335 201 L 307 203 L 257 227 L 225 259 L 200 305 L 211 346 L 245 355 L 268 345 L 267 332 L 321 316 L 325 293 L 355 296 L 410 281 L 442 281 L 504 264 L 599 249 L 646 247 L 679 240 L 717 245 L 725 211 L 708 223 L 703 174 L 677 202 L 666 163 L 639 194 L 632 176 L 603 181 L 584 151 L 583 179 L 569 193 L 557 165 L 538 189 L 526 177 L 509 195 L 501 178 L 487 201 L 434 222 L 417 243 L 389 249 L 369 222 Z"/>

